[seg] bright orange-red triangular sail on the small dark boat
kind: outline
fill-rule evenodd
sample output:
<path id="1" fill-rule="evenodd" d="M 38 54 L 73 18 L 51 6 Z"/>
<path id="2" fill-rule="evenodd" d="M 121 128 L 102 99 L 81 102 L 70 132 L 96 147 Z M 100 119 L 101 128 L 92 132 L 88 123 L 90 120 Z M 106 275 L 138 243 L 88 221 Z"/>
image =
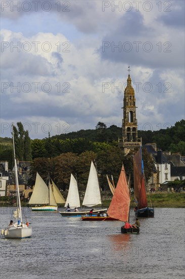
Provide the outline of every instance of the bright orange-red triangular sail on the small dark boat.
<path id="1" fill-rule="evenodd" d="M 128 221 L 130 208 L 130 195 L 125 169 L 122 165 L 119 180 L 108 209 L 108 215 L 120 221 Z"/>

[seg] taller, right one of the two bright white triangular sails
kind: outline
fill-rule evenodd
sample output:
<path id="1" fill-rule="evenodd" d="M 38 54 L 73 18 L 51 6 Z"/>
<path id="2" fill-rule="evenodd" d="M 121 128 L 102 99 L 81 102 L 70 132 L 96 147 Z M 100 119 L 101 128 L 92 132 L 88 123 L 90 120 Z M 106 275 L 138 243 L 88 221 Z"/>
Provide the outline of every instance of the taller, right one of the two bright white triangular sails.
<path id="1" fill-rule="evenodd" d="M 94 163 L 91 161 L 87 188 L 82 205 L 92 207 L 97 204 L 102 204 L 102 200 L 98 181 L 98 173 Z"/>

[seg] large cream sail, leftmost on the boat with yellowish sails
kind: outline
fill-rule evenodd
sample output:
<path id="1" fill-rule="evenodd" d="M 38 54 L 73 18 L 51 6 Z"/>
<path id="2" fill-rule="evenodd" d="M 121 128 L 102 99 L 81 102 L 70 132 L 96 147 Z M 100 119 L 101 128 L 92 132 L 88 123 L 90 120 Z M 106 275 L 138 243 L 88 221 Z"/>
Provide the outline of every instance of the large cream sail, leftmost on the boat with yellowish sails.
<path id="1" fill-rule="evenodd" d="M 36 173 L 35 186 L 33 193 L 28 202 L 29 204 L 48 204 L 49 203 L 49 189 L 43 179 Z"/>

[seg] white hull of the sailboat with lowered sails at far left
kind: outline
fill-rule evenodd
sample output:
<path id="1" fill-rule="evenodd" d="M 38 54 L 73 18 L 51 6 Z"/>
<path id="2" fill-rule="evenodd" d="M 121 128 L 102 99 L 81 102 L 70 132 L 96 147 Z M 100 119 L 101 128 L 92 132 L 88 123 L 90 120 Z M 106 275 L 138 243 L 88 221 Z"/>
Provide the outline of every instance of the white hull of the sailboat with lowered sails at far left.
<path id="1" fill-rule="evenodd" d="M 21 226 L 11 226 L 5 229 L 2 235 L 5 238 L 28 238 L 32 235 L 32 229 L 27 227 L 25 224 Z"/>

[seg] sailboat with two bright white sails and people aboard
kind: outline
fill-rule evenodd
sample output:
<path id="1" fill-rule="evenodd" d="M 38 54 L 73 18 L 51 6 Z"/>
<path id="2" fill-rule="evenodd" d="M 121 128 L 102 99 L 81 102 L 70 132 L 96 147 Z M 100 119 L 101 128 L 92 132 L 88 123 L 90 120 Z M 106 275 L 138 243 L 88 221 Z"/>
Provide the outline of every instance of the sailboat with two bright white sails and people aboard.
<path id="1" fill-rule="evenodd" d="M 69 192 L 66 200 L 65 206 L 70 204 L 71 208 L 80 206 L 80 199 L 78 193 L 78 186 L 75 178 L 71 174 Z M 83 198 L 82 205 L 87 207 L 94 207 L 95 205 L 102 204 L 100 186 L 98 181 L 98 173 L 94 163 L 91 161 L 90 171 L 88 176 L 87 187 L 85 191 L 85 195 Z M 94 210 L 93 213 L 97 214 L 98 212 L 103 213 L 107 208 L 101 210 Z M 74 217 L 74 216 L 85 216 L 89 210 L 81 210 L 79 212 L 60 212 L 62 216 L 66 217 Z"/>

